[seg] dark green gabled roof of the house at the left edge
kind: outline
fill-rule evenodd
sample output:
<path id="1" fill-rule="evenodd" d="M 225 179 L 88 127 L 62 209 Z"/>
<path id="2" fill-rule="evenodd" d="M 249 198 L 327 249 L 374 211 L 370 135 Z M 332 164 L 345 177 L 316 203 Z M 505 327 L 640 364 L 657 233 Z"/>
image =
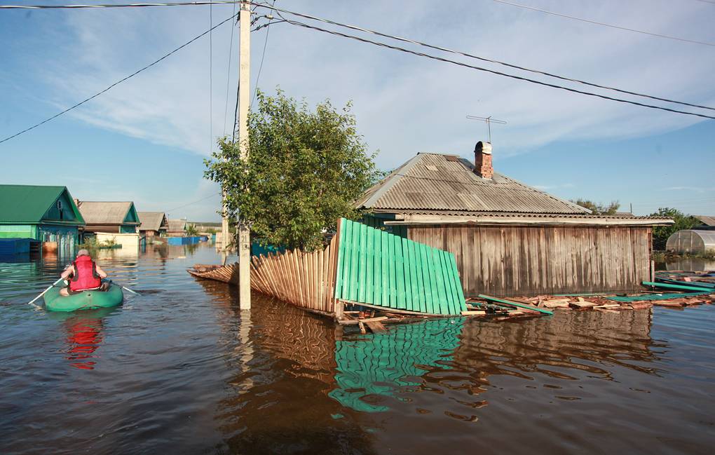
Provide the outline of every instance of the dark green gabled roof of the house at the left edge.
<path id="1" fill-rule="evenodd" d="M 0 185 L 0 223 L 37 224 L 62 197 L 71 205 L 75 220 L 47 220 L 69 225 L 84 225 L 84 218 L 74 204 L 67 187 L 41 185 Z"/>

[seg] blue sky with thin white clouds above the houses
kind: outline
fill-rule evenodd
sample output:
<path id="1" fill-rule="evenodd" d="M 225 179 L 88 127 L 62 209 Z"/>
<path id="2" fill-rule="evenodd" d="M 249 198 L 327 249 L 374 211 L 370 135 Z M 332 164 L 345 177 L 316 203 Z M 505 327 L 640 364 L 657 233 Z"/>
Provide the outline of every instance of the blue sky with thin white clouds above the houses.
<path id="1" fill-rule="evenodd" d="M 715 5 L 706 2 L 521 3 L 715 42 Z M 715 106 L 715 47 L 490 0 L 407 5 L 277 1 L 488 58 Z M 232 6 L 214 6 L 214 24 L 231 14 Z M 0 136 L 136 71 L 208 29 L 209 20 L 207 6 L 0 11 Z M 82 200 L 134 200 L 138 210 L 217 220 L 219 188 L 202 179 L 202 161 L 225 124 L 227 132 L 232 127 L 237 29 L 229 71 L 230 33 L 225 24 L 212 34 L 210 59 L 206 36 L 71 113 L 0 144 L 0 182 L 66 185 Z M 265 34 L 252 35 L 252 87 Z M 379 150 L 377 164 L 385 170 L 416 152 L 470 157 L 486 129 L 465 115 L 493 115 L 508 121 L 492 129 L 498 172 L 560 197 L 618 200 L 621 210 L 632 203 L 639 215 L 664 206 L 715 214 L 713 120 L 568 94 L 289 24 L 271 26 L 260 75 L 262 89 L 272 92 L 277 85 L 310 104 L 329 98 L 340 106 L 352 99 L 358 128 L 370 150 Z"/>

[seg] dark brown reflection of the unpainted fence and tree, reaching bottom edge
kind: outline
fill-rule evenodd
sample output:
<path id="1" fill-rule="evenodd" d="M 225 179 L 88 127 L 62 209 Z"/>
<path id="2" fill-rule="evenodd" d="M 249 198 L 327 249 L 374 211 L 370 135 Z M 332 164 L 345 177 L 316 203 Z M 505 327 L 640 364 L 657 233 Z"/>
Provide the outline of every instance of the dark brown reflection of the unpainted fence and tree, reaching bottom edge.
<path id="1" fill-rule="evenodd" d="M 332 321 L 253 293 L 250 312 L 235 286 L 199 280 L 215 296 L 227 347 L 227 396 L 215 419 L 230 453 L 369 453 L 368 434 L 328 398 L 335 374 Z M 227 297 L 230 294 L 230 298 Z"/>

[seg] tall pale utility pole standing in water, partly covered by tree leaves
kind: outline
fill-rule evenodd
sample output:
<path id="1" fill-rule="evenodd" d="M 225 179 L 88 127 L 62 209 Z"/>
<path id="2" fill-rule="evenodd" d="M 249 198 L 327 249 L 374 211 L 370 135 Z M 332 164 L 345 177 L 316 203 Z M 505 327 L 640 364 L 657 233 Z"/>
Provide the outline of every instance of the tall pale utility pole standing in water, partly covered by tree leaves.
<path id="1" fill-rule="evenodd" d="M 251 92 L 251 9 L 241 2 L 240 48 L 238 74 L 238 147 L 243 160 L 248 159 L 248 108 Z M 239 214 L 240 216 L 240 214 Z M 242 310 L 251 309 L 251 233 L 238 220 L 238 304 Z"/>

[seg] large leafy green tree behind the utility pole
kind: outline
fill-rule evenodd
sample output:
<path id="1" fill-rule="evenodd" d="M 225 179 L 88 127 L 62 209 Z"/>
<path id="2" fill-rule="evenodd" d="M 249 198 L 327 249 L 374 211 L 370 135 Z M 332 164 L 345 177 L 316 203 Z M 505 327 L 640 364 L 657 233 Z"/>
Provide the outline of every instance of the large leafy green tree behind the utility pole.
<path id="1" fill-rule="evenodd" d="M 204 161 L 205 176 L 225 190 L 225 215 L 256 238 L 319 248 L 322 230 L 358 216 L 354 202 L 376 178 L 375 155 L 366 153 L 350 103 L 339 112 L 325 101 L 312 111 L 280 89 L 275 97 L 259 91 L 257 101 L 249 114 L 250 158 L 224 138 L 214 159 Z"/>

